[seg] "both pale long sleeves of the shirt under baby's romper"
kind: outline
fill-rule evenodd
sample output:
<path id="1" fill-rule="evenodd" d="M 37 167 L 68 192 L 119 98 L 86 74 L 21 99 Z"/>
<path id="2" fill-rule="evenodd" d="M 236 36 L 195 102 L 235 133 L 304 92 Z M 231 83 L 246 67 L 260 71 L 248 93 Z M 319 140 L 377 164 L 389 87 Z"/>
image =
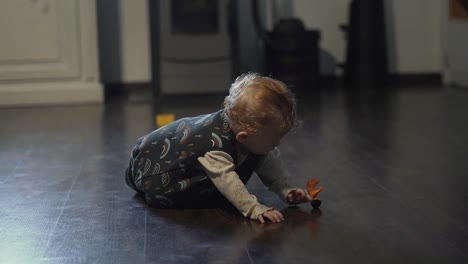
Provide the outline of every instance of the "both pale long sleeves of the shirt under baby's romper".
<path id="1" fill-rule="evenodd" d="M 237 166 L 245 161 L 246 156 L 239 155 Z M 244 183 L 235 172 L 237 167 L 233 158 L 223 151 L 210 151 L 199 157 L 198 161 L 204 167 L 208 178 L 216 188 L 245 216 L 258 219 L 258 216 L 272 208 L 262 205 L 257 197 L 250 194 Z M 287 182 L 288 172 L 280 158 L 280 151 L 275 148 L 260 161 L 257 175 L 268 190 L 275 192 L 283 200 L 292 190 Z"/>

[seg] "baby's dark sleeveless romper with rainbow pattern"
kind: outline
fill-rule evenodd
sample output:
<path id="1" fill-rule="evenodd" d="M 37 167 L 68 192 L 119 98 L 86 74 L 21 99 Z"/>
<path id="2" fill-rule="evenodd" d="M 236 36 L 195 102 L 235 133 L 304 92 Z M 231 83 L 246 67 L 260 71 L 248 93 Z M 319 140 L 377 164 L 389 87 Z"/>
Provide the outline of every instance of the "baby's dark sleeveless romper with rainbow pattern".
<path id="1" fill-rule="evenodd" d="M 226 203 L 197 160 L 213 150 L 228 153 L 237 164 L 236 140 L 223 110 L 183 118 L 139 138 L 131 153 L 126 182 L 152 207 L 205 207 Z M 244 184 L 260 158 L 249 154 L 236 168 Z"/>

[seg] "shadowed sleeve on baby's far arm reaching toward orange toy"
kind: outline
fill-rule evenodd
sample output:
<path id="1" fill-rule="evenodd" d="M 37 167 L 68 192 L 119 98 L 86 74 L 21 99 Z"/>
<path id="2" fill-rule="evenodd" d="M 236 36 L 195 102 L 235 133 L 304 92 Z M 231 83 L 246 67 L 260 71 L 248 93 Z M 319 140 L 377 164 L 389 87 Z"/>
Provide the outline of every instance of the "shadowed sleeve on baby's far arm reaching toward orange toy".
<path id="1" fill-rule="evenodd" d="M 284 167 L 280 155 L 279 149 L 274 148 L 260 161 L 255 172 L 268 190 L 286 201 L 288 193 L 297 188 L 291 188 L 289 185 L 289 172 Z"/>

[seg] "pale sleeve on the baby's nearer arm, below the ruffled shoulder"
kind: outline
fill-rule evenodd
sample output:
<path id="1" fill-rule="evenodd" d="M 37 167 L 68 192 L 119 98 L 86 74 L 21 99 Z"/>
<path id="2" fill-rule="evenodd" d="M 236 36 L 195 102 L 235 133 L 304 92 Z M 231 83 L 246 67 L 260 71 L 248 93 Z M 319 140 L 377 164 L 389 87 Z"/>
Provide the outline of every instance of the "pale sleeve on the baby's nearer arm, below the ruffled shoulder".
<path id="1" fill-rule="evenodd" d="M 226 152 L 210 151 L 199 157 L 198 161 L 216 188 L 245 217 L 258 219 L 259 215 L 272 210 L 272 208 L 260 204 L 257 197 L 249 193 L 235 172 L 232 157 Z"/>

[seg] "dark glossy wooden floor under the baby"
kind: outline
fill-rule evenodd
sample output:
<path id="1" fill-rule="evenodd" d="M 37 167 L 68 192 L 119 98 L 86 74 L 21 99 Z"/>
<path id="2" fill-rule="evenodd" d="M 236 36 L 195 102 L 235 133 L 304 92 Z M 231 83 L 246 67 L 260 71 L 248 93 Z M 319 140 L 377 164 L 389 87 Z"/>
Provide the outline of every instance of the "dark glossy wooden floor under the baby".
<path id="1" fill-rule="evenodd" d="M 316 177 L 320 211 L 286 220 L 154 210 L 124 183 L 156 111 L 217 109 L 222 97 L 0 109 L 0 263 L 468 263 L 468 90 L 301 93 L 304 127 L 280 149 L 291 182 Z"/>

